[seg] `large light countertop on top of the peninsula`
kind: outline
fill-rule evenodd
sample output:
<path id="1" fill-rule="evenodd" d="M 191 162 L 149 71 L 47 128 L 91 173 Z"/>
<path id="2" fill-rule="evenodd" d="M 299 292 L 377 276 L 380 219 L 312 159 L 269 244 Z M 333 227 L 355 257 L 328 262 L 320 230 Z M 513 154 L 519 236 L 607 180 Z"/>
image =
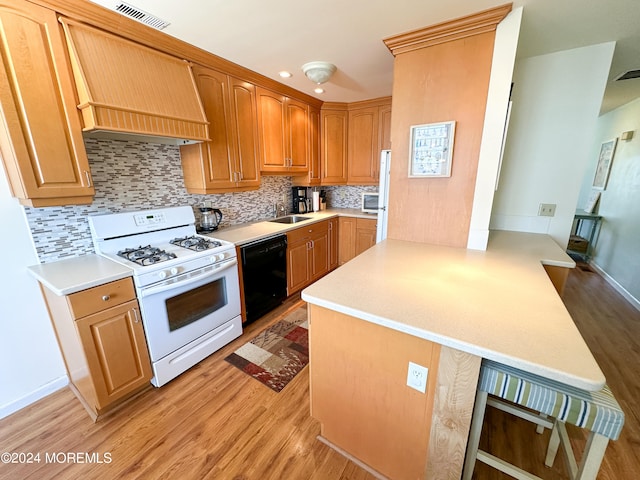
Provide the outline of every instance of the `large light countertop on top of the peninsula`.
<path id="1" fill-rule="evenodd" d="M 492 232 L 486 251 L 385 240 L 310 285 L 321 307 L 586 390 L 604 375 L 543 264 L 547 235 Z"/>

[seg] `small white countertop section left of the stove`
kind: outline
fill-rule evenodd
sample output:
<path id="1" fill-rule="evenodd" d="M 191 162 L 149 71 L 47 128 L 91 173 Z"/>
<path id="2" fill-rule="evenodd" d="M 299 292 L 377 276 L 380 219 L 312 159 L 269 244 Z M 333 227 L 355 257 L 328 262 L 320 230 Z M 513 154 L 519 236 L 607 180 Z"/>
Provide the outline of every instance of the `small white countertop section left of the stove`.
<path id="1" fill-rule="evenodd" d="M 95 254 L 33 265 L 28 270 L 56 295 L 69 295 L 133 273 L 130 268 Z"/>

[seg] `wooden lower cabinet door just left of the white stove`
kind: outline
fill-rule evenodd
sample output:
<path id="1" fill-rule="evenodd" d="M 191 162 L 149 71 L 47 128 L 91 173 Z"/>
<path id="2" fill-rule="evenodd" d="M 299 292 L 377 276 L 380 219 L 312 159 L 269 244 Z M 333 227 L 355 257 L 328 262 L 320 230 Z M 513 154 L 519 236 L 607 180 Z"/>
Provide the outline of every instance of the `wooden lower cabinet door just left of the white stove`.
<path id="1" fill-rule="evenodd" d="M 151 380 L 151 363 L 138 302 L 76 320 L 89 371 L 102 409 Z"/>

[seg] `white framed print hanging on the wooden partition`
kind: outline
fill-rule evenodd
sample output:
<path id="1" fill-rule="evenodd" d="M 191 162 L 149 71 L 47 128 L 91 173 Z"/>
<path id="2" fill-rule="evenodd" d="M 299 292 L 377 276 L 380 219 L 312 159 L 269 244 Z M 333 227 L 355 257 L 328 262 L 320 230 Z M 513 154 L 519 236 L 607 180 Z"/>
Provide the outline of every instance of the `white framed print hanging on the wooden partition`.
<path id="1" fill-rule="evenodd" d="M 413 125 L 409 178 L 450 177 L 455 121 Z"/>

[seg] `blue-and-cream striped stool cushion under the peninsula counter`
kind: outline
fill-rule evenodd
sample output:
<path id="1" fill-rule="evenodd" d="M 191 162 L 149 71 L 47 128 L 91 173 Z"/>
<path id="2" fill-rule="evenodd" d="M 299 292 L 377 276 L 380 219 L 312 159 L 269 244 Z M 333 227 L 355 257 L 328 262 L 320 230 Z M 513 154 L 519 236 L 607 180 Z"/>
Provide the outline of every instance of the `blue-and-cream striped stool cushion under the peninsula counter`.
<path id="1" fill-rule="evenodd" d="M 606 385 L 588 392 L 485 359 L 478 389 L 611 440 L 624 424 L 624 412 Z"/>

